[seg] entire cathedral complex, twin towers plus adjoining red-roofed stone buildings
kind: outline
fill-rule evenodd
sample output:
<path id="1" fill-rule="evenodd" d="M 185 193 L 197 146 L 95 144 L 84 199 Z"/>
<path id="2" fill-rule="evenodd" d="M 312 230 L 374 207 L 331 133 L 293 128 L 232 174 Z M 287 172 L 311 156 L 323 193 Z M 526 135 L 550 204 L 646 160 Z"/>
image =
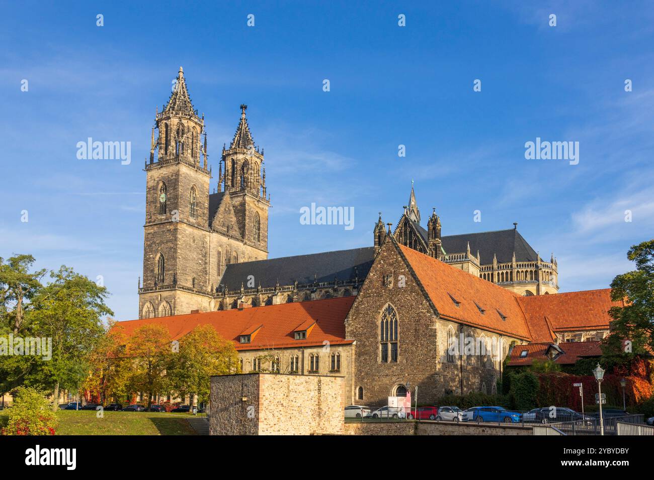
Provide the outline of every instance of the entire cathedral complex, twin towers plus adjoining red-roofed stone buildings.
<path id="1" fill-rule="evenodd" d="M 347 402 L 380 406 L 413 386 L 424 402 L 492 393 L 508 357 L 598 355 L 608 311 L 622 305 L 610 289 L 558 293 L 557 261 L 517 223 L 443 236 L 434 209 L 422 227 L 413 185 L 394 227 L 379 215 L 370 247 L 268 259 L 264 150 L 246 110 L 210 193 L 204 118 L 179 69 L 145 165 L 139 319 L 114 328 L 129 336 L 156 323 L 179 340 L 211 325 L 233 342 L 235 373 L 343 376 Z M 472 351 L 456 348 L 464 339 Z"/>

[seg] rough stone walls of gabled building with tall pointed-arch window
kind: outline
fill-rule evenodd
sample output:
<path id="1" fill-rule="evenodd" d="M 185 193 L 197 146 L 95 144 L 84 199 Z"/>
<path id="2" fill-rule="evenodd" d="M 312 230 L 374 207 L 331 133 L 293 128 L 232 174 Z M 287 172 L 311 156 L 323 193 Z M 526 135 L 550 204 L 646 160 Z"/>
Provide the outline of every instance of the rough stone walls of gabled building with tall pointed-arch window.
<path id="1" fill-rule="evenodd" d="M 380 321 L 387 306 L 398 319 L 396 361 L 383 361 L 381 354 Z M 445 394 L 494 392 L 502 363 L 493 355 L 492 345 L 502 345 L 502 355 L 506 355 L 511 342 L 522 343 L 437 317 L 396 242 L 381 247 L 345 325 L 346 337 L 356 339 L 351 392 L 351 403 L 356 404 L 384 405 L 398 387 L 413 392 L 417 386 L 421 404 L 436 402 Z M 448 355 L 449 331 L 455 338 L 483 338 L 487 355 L 471 355 L 470 359 Z"/>

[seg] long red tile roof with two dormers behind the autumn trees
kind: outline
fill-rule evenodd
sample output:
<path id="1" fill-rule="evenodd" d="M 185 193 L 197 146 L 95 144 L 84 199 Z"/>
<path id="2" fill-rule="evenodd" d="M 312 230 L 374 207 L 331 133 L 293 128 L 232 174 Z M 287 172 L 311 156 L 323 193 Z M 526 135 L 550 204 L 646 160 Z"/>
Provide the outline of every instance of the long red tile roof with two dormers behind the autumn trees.
<path id="1" fill-rule="evenodd" d="M 143 325 L 165 325 L 171 340 L 179 340 L 198 325 L 211 325 L 222 337 L 232 340 L 237 350 L 258 350 L 283 347 L 310 347 L 330 342 L 332 345 L 352 344 L 345 338 L 345 317 L 355 296 L 293 302 L 247 308 L 244 310 L 218 310 L 217 312 L 189 313 L 116 323 L 114 328 L 130 336 Z M 295 340 L 298 325 L 314 323 L 305 340 Z M 262 325 L 249 344 L 239 343 L 241 332 L 254 330 Z"/>

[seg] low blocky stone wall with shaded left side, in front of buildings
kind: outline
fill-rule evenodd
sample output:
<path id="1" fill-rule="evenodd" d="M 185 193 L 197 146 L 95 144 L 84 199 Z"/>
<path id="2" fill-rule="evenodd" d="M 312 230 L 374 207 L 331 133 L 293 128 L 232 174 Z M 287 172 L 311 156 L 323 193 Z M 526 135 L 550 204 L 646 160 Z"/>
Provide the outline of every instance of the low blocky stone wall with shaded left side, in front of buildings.
<path id="1" fill-rule="evenodd" d="M 212 435 L 343 434 L 343 377 L 211 377 Z"/>

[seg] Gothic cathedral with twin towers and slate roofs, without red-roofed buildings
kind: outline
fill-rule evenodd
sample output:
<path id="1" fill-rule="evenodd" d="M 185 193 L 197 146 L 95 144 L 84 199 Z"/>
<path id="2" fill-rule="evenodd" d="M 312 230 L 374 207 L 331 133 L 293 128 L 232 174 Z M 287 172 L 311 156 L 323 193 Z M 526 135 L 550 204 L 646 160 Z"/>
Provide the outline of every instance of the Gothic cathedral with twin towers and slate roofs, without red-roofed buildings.
<path id="1" fill-rule="evenodd" d="M 217 188 L 210 193 L 204 115 L 191 103 L 180 67 L 167 104 L 156 114 L 145 165 L 140 318 L 356 295 L 366 280 L 388 234 L 381 214 L 370 248 L 268 259 L 264 149 L 254 144 L 246 110 L 241 104 L 232 142 L 222 148 Z M 557 261 L 553 255 L 543 261 L 517 223 L 508 230 L 441 236 L 435 210 L 422 227 L 413 185 L 392 235 L 401 245 L 518 295 L 559 289 Z"/>

